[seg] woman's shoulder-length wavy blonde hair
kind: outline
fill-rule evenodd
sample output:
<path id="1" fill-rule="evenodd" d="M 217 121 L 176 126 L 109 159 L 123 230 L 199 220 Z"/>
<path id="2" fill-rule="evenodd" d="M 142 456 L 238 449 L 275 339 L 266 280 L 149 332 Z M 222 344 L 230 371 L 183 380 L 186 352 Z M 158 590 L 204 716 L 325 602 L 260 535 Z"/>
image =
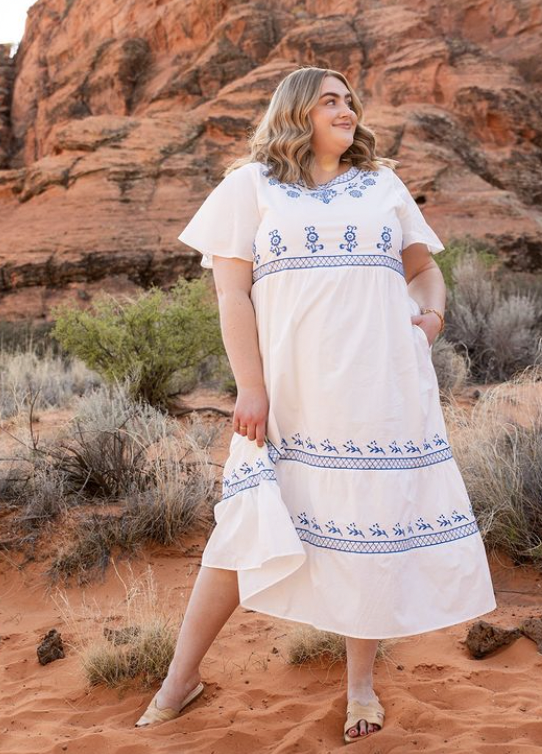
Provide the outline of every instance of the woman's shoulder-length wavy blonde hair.
<path id="1" fill-rule="evenodd" d="M 397 160 L 377 155 L 376 136 L 362 125 L 363 107 L 346 77 L 329 68 L 307 66 L 292 71 L 282 79 L 263 118 L 249 136 L 250 155 L 235 160 L 225 170 L 224 176 L 249 162 L 262 162 L 268 166 L 269 175 L 281 183 L 303 183 L 309 188 L 316 188 L 310 174 L 313 156 L 310 142 L 314 129 L 309 111 L 319 100 L 325 76 L 334 76 L 347 87 L 352 95 L 352 109 L 358 117 L 354 140 L 341 155 L 340 161 L 366 170 L 378 170 L 380 165 L 395 170 L 399 164 Z"/>

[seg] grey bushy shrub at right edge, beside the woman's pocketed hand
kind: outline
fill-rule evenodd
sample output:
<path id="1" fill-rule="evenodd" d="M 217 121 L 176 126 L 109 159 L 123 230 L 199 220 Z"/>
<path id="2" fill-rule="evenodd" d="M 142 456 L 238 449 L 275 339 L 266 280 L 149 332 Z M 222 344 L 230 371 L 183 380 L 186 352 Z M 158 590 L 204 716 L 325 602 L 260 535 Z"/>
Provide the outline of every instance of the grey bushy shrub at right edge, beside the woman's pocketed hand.
<path id="1" fill-rule="evenodd" d="M 474 254 L 453 267 L 446 338 L 464 348 L 474 380 L 505 380 L 542 357 L 542 299 L 501 288 Z"/>

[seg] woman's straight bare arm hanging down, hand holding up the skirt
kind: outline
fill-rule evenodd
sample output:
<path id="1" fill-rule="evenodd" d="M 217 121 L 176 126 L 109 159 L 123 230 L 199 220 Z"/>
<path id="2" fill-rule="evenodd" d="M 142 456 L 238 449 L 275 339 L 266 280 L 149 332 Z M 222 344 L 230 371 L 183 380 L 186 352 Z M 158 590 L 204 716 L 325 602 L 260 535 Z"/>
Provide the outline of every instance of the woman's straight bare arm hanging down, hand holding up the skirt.
<path id="1" fill-rule="evenodd" d="M 256 315 L 250 300 L 252 262 L 213 257 L 222 339 L 237 384 L 233 431 L 265 442 L 269 401 L 258 347 Z"/>

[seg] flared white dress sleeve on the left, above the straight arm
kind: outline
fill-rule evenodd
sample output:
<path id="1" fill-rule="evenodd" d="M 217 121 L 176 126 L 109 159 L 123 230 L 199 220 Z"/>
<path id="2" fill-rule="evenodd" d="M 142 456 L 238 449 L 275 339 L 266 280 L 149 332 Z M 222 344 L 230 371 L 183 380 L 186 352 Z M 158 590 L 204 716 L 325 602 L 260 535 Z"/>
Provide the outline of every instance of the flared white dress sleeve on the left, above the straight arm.
<path id="1" fill-rule="evenodd" d="M 213 267 L 213 255 L 252 262 L 252 245 L 260 223 L 255 163 L 232 170 L 211 191 L 179 235 L 203 255 L 201 266 Z"/>

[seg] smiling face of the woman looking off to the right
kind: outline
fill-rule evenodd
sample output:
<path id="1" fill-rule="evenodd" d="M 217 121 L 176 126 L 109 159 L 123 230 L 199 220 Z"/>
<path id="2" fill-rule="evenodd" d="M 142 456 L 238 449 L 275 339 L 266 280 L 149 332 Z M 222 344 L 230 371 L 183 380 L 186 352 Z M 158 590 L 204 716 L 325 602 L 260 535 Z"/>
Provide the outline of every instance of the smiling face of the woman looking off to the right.
<path id="1" fill-rule="evenodd" d="M 352 144 L 358 118 L 352 110 L 348 88 L 335 76 L 324 76 L 320 98 L 309 118 L 314 128 L 311 146 L 315 154 L 340 156 Z"/>

